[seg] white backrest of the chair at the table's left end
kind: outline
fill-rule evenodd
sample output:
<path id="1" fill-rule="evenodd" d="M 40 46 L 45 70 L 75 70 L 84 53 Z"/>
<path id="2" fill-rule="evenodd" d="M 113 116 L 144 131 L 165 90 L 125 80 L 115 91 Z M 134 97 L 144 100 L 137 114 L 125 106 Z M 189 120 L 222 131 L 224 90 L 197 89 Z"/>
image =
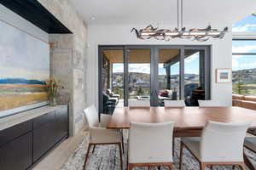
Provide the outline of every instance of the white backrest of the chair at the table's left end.
<path id="1" fill-rule="evenodd" d="M 99 118 L 94 105 L 90 105 L 90 107 L 84 109 L 84 115 L 86 116 L 89 127 L 98 127 Z"/>

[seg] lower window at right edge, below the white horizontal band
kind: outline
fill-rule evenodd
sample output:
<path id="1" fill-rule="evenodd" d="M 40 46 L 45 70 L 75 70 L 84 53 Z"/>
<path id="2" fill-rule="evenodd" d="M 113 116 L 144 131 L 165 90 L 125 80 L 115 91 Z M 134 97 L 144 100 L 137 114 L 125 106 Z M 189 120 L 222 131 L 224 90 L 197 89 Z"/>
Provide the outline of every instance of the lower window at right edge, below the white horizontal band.
<path id="1" fill-rule="evenodd" d="M 233 40 L 233 93 L 256 95 L 256 40 Z"/>

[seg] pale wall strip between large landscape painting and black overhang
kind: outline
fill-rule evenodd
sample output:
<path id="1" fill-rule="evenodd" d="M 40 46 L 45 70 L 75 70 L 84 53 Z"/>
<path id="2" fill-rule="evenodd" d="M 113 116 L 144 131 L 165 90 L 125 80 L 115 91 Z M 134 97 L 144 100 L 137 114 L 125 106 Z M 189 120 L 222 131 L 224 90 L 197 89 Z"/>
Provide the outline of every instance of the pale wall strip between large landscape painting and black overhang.
<path id="1" fill-rule="evenodd" d="M 0 24 L 1 21 L 6 22 L 10 26 L 15 26 L 21 31 L 26 31 L 28 34 L 32 35 L 33 37 L 37 37 L 44 42 L 49 42 L 48 33 L 44 32 L 37 26 L 34 26 L 31 22 L 23 19 L 20 17 L 20 15 L 15 14 L 9 10 L 9 8 L 6 8 L 0 4 Z"/>

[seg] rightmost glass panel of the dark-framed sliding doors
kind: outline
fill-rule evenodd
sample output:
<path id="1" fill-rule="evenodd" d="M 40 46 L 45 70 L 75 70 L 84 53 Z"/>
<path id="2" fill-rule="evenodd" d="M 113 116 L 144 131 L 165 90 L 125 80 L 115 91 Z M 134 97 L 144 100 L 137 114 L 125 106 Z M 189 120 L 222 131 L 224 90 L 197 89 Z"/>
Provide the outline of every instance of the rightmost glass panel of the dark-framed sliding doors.
<path id="1" fill-rule="evenodd" d="M 184 99 L 197 106 L 199 99 L 210 99 L 210 61 L 207 48 L 184 48 Z"/>

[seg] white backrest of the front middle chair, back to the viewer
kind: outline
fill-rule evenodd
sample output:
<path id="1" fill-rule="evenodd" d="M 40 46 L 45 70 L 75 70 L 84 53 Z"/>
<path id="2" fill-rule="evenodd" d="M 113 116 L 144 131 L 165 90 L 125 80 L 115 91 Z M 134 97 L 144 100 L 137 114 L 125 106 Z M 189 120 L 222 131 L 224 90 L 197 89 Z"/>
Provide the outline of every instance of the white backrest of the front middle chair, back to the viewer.
<path id="1" fill-rule="evenodd" d="M 129 163 L 172 162 L 174 122 L 131 122 L 129 131 Z"/>

